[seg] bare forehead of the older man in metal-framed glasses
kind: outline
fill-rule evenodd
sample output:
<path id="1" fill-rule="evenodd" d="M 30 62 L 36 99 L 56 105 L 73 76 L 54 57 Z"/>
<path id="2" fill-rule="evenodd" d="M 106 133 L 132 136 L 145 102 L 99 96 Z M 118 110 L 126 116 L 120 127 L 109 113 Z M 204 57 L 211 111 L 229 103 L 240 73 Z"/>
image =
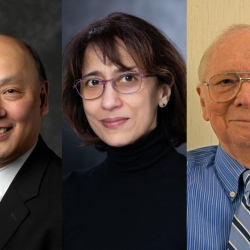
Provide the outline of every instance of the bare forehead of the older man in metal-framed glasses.
<path id="1" fill-rule="evenodd" d="M 206 78 L 223 72 L 250 72 L 250 29 L 225 35 L 212 48 Z"/>

